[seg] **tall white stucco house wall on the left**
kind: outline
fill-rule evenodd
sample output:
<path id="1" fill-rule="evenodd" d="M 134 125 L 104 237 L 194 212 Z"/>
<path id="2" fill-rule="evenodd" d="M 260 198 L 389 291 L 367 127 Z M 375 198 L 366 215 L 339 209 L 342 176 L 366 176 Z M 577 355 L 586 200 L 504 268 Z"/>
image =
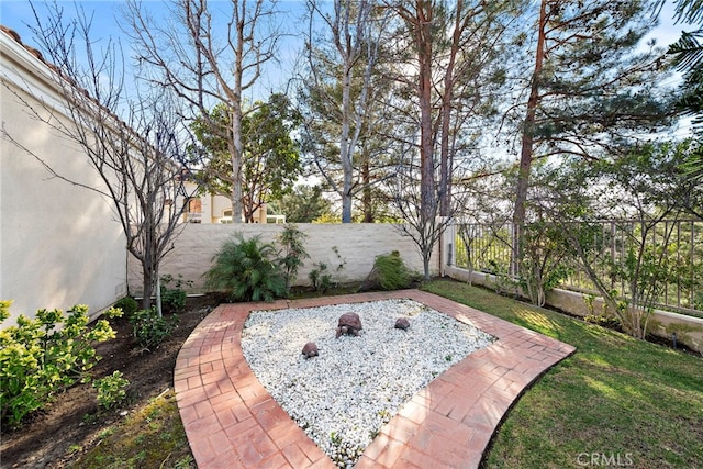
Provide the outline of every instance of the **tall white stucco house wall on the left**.
<path id="1" fill-rule="evenodd" d="M 22 102 L 42 109 L 43 100 L 60 109 L 46 65 L 4 32 L 0 54 L 0 112 L 8 134 L 66 178 L 100 187 L 81 149 L 29 115 Z M 124 295 L 125 239 L 110 201 L 52 177 L 4 135 L 0 144 L 0 299 L 14 301 L 12 316 L 77 303 L 97 313 Z M 11 323 L 13 317 L 2 326 Z"/>

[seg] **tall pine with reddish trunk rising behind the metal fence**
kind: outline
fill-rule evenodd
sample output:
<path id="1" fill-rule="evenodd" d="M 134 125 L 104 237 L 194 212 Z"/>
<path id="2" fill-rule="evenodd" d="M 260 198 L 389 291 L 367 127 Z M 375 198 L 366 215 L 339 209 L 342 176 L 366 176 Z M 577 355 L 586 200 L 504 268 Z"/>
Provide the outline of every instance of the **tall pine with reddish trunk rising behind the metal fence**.
<path id="1" fill-rule="evenodd" d="M 662 52 L 643 38 L 656 25 L 652 1 L 542 0 L 533 71 L 520 123 L 514 248 L 528 221 L 533 161 L 616 155 L 637 136 L 668 123 L 669 105 L 657 83 Z"/>

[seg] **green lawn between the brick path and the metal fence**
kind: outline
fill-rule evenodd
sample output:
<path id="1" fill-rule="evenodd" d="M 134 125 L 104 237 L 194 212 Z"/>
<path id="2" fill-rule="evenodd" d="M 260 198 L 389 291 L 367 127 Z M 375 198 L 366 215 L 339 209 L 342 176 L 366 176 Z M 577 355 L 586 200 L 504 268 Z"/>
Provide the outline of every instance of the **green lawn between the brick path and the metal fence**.
<path id="1" fill-rule="evenodd" d="M 465 283 L 423 290 L 577 347 L 510 411 L 486 467 L 703 464 L 703 359 Z"/>

